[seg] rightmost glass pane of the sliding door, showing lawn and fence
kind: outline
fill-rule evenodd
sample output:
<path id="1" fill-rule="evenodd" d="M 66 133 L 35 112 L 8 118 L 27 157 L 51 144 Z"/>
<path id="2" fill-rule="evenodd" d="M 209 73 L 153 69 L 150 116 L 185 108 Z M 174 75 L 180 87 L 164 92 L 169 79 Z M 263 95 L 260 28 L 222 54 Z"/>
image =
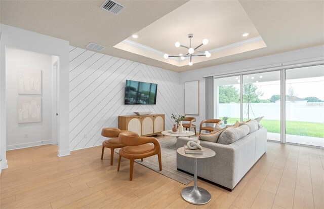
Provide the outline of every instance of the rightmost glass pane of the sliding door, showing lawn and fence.
<path id="1" fill-rule="evenodd" d="M 324 146 L 324 66 L 286 70 L 286 142 Z"/>

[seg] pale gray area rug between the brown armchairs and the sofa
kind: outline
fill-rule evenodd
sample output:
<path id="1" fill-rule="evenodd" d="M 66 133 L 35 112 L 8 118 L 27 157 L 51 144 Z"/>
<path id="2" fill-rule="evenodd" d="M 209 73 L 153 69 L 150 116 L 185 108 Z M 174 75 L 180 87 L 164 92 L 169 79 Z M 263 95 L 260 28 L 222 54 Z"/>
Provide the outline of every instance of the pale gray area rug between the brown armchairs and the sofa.
<path id="1" fill-rule="evenodd" d="M 157 155 L 144 158 L 142 162 L 141 159 L 135 160 L 135 162 L 144 165 L 145 167 L 162 174 L 170 179 L 176 180 L 182 184 L 188 185 L 193 181 L 193 176 L 185 174 L 177 170 L 177 150 L 170 149 L 168 146 L 176 142 L 175 137 L 165 137 L 158 140 L 161 146 L 161 161 L 162 161 L 162 171 L 158 169 L 158 159 Z M 118 153 L 119 149 L 115 152 Z"/>

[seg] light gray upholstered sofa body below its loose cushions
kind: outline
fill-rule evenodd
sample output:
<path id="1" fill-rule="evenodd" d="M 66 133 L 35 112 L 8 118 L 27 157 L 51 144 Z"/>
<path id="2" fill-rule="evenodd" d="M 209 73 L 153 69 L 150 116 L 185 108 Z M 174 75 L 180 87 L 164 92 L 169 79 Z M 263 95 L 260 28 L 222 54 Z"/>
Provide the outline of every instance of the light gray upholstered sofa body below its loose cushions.
<path id="1" fill-rule="evenodd" d="M 190 140 L 192 138 L 179 137 L 177 148 L 183 147 Z M 202 140 L 200 145 L 214 150 L 216 155 L 210 158 L 198 158 L 198 177 L 231 191 L 266 152 L 267 130 L 258 129 L 228 145 Z M 193 166 L 193 158 L 177 153 L 178 170 L 193 174 Z"/>

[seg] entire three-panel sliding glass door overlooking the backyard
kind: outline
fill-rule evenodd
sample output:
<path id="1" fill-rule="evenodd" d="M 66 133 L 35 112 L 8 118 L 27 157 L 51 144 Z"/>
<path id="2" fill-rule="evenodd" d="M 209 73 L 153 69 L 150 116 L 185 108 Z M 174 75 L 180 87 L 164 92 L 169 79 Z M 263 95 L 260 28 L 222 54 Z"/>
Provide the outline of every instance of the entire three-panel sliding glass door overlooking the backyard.
<path id="1" fill-rule="evenodd" d="M 214 92 L 215 118 L 263 117 L 269 140 L 324 147 L 324 65 L 215 78 Z"/>

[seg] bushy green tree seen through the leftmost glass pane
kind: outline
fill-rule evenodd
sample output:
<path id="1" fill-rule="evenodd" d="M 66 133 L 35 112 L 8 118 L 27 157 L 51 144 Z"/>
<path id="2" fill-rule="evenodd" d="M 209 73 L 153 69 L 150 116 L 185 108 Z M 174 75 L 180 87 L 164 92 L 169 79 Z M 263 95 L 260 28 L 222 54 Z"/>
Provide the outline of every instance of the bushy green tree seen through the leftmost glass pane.
<path id="1" fill-rule="evenodd" d="M 218 103 L 239 103 L 239 92 L 233 85 L 218 87 Z"/>

